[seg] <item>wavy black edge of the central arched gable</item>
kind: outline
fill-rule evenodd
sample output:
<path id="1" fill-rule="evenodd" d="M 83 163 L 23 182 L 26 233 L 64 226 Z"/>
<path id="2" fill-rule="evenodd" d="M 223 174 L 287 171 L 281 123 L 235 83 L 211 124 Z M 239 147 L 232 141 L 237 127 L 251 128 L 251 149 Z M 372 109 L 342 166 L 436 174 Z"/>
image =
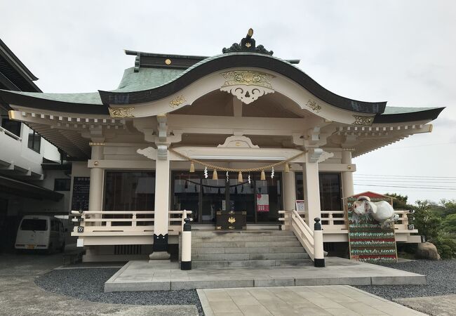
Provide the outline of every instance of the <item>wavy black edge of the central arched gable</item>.
<path id="1" fill-rule="evenodd" d="M 102 103 L 105 105 L 146 103 L 166 98 L 173 93 L 182 90 L 182 88 L 185 88 L 197 79 L 201 79 L 213 72 L 232 67 L 258 67 L 283 74 L 283 76 L 300 84 L 300 86 L 307 89 L 317 98 L 343 110 L 380 114 L 384 112 L 384 108 L 387 105 L 387 102 L 371 103 L 338 96 L 337 94 L 328 91 L 326 88 L 323 88 L 323 86 L 314 81 L 314 79 L 311 79 L 311 77 L 302 72 L 299 68 L 289 65 L 288 63 L 283 62 L 283 60 L 270 58 L 264 55 L 246 53 L 222 55 L 220 58 L 209 60 L 198 67 L 194 67 L 192 70 L 185 72 L 182 76 L 168 84 L 149 90 L 124 93 L 100 90 L 98 92 L 100 93 Z"/>

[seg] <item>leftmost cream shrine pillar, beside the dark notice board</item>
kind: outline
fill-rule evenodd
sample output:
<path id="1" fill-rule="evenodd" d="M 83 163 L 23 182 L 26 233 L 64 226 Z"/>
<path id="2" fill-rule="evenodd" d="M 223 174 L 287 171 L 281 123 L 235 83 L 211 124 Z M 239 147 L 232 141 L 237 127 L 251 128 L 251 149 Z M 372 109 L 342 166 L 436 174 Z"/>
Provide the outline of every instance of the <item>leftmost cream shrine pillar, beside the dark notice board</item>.
<path id="1" fill-rule="evenodd" d="M 92 154 L 90 159 L 93 160 L 93 166 L 90 167 L 90 187 L 88 194 L 88 210 L 102 211 L 103 197 L 103 169 L 98 166 L 99 161 L 103 159 L 104 143 L 90 143 Z M 77 210 L 76 210 L 77 211 Z M 95 216 L 100 218 L 100 216 Z"/>

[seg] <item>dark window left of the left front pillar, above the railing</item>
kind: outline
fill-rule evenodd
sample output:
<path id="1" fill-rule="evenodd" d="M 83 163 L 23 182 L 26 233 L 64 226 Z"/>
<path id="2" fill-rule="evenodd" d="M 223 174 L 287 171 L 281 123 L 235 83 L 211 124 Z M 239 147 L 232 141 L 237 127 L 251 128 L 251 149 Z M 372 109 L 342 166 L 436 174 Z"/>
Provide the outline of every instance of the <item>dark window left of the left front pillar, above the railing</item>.
<path id="1" fill-rule="evenodd" d="M 154 211 L 154 171 L 107 171 L 105 211 Z"/>

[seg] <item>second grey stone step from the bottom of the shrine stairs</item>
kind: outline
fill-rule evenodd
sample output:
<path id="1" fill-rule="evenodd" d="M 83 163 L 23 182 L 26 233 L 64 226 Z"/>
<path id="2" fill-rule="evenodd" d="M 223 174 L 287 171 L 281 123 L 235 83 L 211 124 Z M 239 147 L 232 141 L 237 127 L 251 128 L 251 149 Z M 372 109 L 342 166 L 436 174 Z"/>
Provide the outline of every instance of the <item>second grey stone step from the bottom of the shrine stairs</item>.
<path id="1" fill-rule="evenodd" d="M 229 260 L 288 260 L 309 259 L 304 252 L 284 254 L 194 254 L 192 261 L 229 261 Z"/>

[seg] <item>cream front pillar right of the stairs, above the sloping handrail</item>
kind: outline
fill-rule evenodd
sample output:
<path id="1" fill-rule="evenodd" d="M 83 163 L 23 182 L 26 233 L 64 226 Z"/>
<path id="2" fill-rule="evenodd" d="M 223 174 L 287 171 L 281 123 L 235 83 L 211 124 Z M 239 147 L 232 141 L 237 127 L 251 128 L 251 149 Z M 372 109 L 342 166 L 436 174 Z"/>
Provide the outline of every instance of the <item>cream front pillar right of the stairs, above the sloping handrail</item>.
<path id="1" fill-rule="evenodd" d="M 314 218 L 321 218 L 318 158 L 322 152 L 323 150 L 320 148 L 312 148 L 306 154 L 305 164 L 302 164 L 304 211 L 306 214 L 306 223 L 311 230 L 314 230 Z"/>

